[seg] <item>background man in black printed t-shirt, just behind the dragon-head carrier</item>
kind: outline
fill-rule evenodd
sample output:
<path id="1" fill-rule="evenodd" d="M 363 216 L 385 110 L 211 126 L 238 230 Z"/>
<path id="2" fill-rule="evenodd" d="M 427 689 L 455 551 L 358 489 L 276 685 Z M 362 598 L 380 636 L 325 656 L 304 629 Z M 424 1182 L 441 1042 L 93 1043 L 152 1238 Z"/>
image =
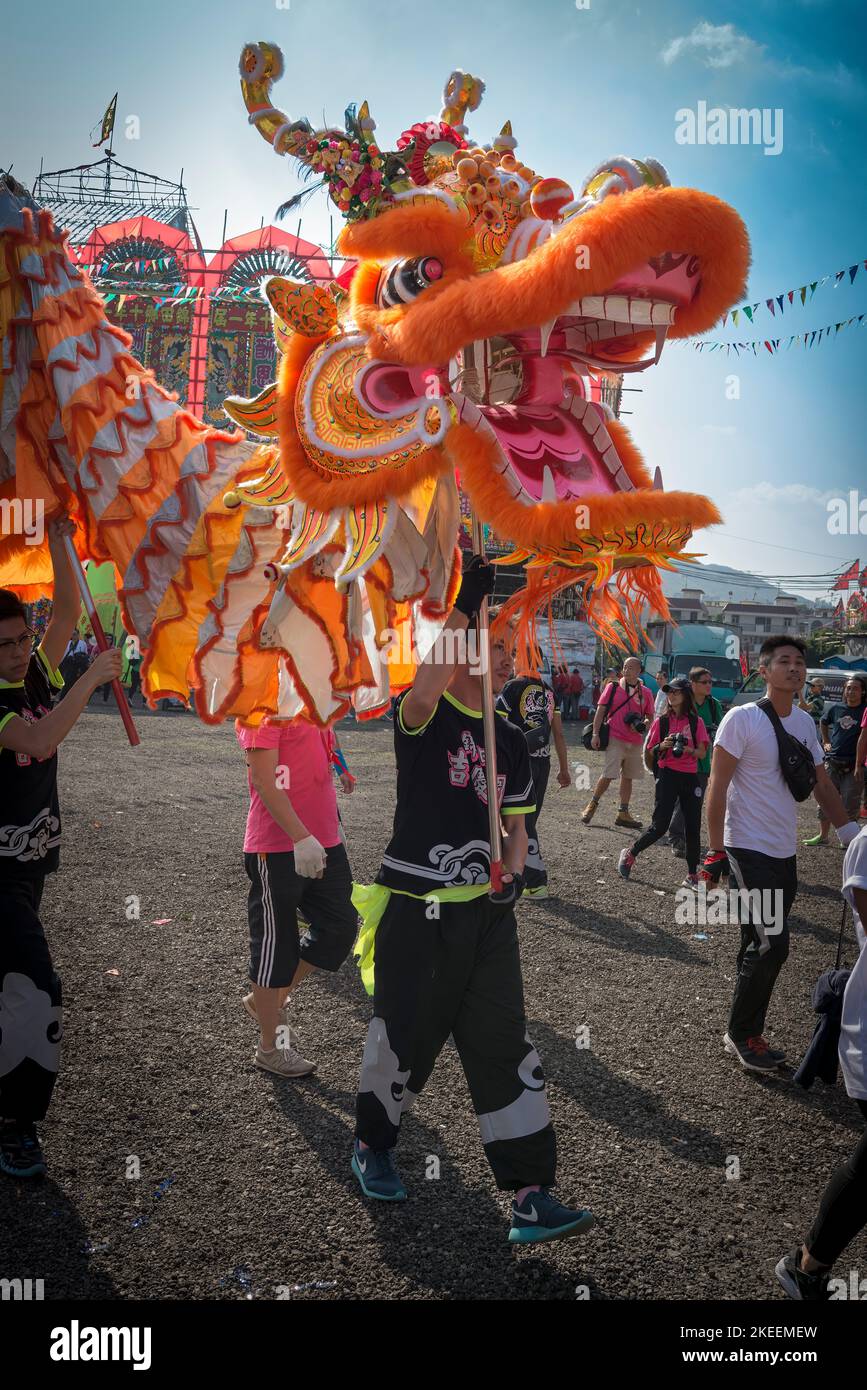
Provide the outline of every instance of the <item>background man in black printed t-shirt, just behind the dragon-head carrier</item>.
<path id="1" fill-rule="evenodd" d="M 540 676 L 513 676 L 497 696 L 497 710 L 522 731 L 534 780 L 535 810 L 527 816 L 528 848 L 524 866 L 524 897 L 547 898 L 547 869 L 542 858 L 536 827 L 550 776 L 552 738 L 560 762 L 557 776 L 560 787 L 570 787 L 572 781 L 559 701 Z"/>

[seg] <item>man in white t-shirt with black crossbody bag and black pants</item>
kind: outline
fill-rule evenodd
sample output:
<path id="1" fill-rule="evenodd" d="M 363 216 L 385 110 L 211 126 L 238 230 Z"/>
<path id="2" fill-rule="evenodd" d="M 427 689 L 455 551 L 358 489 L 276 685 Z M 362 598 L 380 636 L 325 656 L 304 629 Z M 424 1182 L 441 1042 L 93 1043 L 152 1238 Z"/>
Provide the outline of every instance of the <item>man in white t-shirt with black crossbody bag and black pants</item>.
<path id="1" fill-rule="evenodd" d="M 810 714 L 793 708 L 806 676 L 798 637 L 768 637 L 759 653 L 767 699 L 782 728 L 811 753 L 813 795 L 836 827 L 842 845 L 859 833 L 824 766 Z M 728 856 L 739 899 L 741 951 L 725 1048 L 750 1072 L 773 1072 L 784 1054 L 768 1047 L 764 1020 L 777 976 L 789 954 L 788 917 L 798 892 L 798 802 L 779 767 L 774 726 L 760 705 L 739 705 L 722 717 L 707 788 L 706 880 Z"/>

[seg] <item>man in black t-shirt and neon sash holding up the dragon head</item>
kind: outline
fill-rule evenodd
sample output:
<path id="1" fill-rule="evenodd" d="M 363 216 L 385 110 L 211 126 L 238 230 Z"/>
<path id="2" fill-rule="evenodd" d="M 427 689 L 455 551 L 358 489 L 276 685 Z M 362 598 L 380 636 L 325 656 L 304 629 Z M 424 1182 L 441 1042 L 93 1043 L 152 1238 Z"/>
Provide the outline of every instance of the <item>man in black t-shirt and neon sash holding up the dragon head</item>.
<path id="1" fill-rule="evenodd" d="M 556 1144 L 539 1055 L 527 1033 L 514 917 L 534 809 L 524 734 L 496 719 L 504 901 L 489 897 L 490 840 L 481 680 L 465 632 L 493 585 L 474 557 L 445 637 L 396 703 L 397 808 L 363 910 L 374 1017 L 357 1097 L 352 1169 L 367 1197 L 406 1200 L 395 1166 L 402 1113 L 449 1036 L 459 1051 L 497 1187 L 514 1193 L 513 1243 L 574 1236 L 593 1218 L 557 1202 Z M 477 653 L 479 655 L 479 653 Z"/>

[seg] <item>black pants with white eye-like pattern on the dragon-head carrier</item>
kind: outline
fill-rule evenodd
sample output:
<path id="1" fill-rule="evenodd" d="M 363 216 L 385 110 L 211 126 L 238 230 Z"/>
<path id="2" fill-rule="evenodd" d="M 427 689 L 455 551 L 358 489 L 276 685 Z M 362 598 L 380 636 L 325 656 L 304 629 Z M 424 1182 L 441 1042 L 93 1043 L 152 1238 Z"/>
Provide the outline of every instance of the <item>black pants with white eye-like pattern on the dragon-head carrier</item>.
<path id="1" fill-rule="evenodd" d="M 527 1033 L 513 908 L 488 897 L 436 903 L 393 892 L 377 929 L 358 1083 L 356 1133 L 370 1148 L 395 1147 L 449 1034 L 497 1187 L 553 1183 L 554 1131 Z"/>

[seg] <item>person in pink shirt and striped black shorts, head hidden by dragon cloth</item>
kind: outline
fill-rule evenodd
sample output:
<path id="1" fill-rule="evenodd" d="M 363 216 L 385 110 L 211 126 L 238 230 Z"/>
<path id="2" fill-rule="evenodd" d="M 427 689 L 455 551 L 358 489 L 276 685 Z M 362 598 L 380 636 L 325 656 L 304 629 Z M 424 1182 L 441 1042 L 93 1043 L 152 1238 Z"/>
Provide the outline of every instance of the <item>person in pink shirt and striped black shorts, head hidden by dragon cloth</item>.
<path id="1" fill-rule="evenodd" d="M 358 920 L 331 777 L 333 738 L 313 724 L 267 721 L 238 724 L 236 733 L 250 785 L 245 867 L 253 992 L 245 1008 L 258 1020 L 256 1065 L 276 1076 L 307 1076 L 315 1063 L 297 1051 L 289 991 L 311 970 L 342 966 Z M 349 773 L 340 781 L 352 791 Z"/>

